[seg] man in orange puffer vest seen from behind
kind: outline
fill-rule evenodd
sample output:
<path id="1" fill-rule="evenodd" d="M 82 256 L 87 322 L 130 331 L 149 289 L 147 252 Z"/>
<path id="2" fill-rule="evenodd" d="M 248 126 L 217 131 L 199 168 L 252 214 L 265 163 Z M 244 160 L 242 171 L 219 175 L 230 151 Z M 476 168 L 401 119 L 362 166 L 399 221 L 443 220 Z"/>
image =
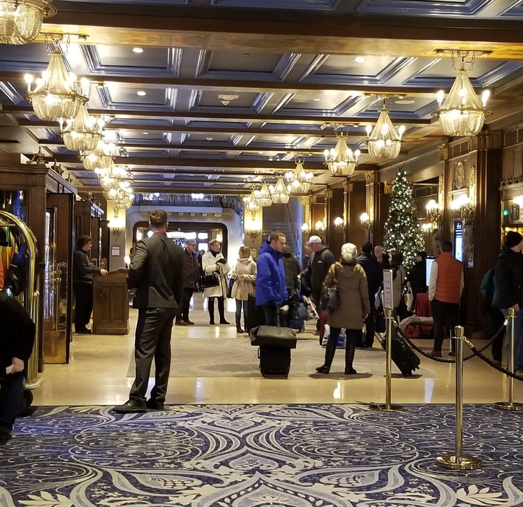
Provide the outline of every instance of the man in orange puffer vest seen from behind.
<path id="1" fill-rule="evenodd" d="M 452 243 L 442 241 L 439 252 L 430 267 L 428 284 L 428 298 L 434 320 L 434 349 L 430 352 L 433 357 L 441 357 L 443 326 L 447 324 L 447 331 L 453 335 L 454 327 L 459 324 L 459 302 L 463 290 L 463 263 L 452 256 Z M 453 356 L 452 341 L 450 348 L 449 356 Z"/>

